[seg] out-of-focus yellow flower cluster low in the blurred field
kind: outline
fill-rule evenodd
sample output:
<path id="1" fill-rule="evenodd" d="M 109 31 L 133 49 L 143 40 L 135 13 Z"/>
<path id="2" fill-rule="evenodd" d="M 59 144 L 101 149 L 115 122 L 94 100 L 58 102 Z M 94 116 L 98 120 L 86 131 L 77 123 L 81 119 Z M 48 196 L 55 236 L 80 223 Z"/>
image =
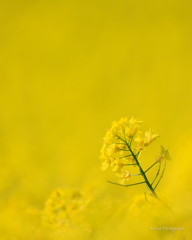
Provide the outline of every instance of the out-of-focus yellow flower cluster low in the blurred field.
<path id="1" fill-rule="evenodd" d="M 88 201 L 73 189 L 56 189 L 45 203 L 42 219 L 44 226 L 54 231 L 65 231 L 82 221 Z"/>

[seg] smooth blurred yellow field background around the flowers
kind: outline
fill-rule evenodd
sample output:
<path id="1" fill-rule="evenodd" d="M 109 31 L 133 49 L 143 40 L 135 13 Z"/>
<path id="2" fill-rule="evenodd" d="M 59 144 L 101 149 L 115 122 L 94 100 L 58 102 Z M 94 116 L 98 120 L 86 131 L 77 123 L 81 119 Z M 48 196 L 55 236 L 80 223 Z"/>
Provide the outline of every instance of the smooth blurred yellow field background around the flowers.
<path id="1" fill-rule="evenodd" d="M 0 1 L 1 240 L 63 239 L 39 215 L 57 188 L 92 199 L 89 229 L 67 240 L 192 238 L 191 11 L 189 0 Z M 106 129 L 132 116 L 161 136 L 144 168 L 170 150 L 157 192 L 174 217 L 149 216 L 134 206 L 144 186 L 110 185 L 100 169 Z"/>

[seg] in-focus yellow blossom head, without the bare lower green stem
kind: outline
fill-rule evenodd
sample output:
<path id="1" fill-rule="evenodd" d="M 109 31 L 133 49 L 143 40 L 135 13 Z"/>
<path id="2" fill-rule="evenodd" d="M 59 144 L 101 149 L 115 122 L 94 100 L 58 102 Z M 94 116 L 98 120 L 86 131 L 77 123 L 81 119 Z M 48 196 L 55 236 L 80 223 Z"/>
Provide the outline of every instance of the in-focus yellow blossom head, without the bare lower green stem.
<path id="1" fill-rule="evenodd" d="M 125 180 L 129 180 L 131 176 L 123 167 L 136 165 L 134 156 L 139 159 L 141 151 L 159 137 L 152 129 L 145 132 L 145 136 L 142 137 L 139 130 L 142 123 L 141 119 L 134 117 L 130 120 L 121 118 L 118 122 L 112 123 L 102 139 L 101 169 L 104 171 L 111 167 L 121 184 L 124 184 Z"/>

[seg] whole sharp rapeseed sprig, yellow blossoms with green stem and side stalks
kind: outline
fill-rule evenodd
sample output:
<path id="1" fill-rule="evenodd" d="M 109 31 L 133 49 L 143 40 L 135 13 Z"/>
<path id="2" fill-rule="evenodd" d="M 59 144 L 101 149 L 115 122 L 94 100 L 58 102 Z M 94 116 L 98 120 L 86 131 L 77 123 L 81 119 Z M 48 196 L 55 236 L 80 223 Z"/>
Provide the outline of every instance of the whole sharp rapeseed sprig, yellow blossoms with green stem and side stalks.
<path id="1" fill-rule="evenodd" d="M 168 149 L 165 150 L 161 146 L 160 156 L 157 158 L 154 164 L 152 164 L 147 170 L 143 170 L 140 164 L 140 154 L 148 147 L 152 142 L 154 142 L 159 135 L 155 133 L 152 129 L 145 132 L 142 136 L 139 130 L 142 126 L 143 121 L 141 119 L 135 119 L 132 117 L 130 120 L 127 118 L 121 118 L 118 122 L 114 121 L 110 129 L 107 130 L 105 137 L 102 140 L 103 146 L 101 148 L 101 170 L 106 170 L 111 167 L 111 170 L 119 178 L 120 183 L 110 182 L 112 184 L 128 187 L 138 184 L 145 184 L 148 193 L 161 202 L 170 211 L 171 209 L 157 196 L 155 189 L 158 186 L 160 180 L 163 177 L 166 160 L 171 160 Z M 161 162 L 164 160 L 164 167 L 161 175 L 158 179 L 161 170 Z M 149 171 L 156 164 L 159 164 L 159 168 L 152 182 L 147 178 L 147 171 Z M 130 174 L 129 171 L 123 169 L 126 166 L 135 166 L 139 169 L 139 174 Z M 130 177 L 141 175 L 143 177 L 142 182 L 133 183 L 129 185 L 124 185 L 125 180 L 129 180 Z M 156 180 L 158 181 L 156 182 Z M 155 184 L 156 182 L 156 184 Z M 154 185 L 155 184 L 155 185 Z M 145 195 L 146 196 L 146 195 Z M 146 199 L 147 200 L 147 199 Z"/>

